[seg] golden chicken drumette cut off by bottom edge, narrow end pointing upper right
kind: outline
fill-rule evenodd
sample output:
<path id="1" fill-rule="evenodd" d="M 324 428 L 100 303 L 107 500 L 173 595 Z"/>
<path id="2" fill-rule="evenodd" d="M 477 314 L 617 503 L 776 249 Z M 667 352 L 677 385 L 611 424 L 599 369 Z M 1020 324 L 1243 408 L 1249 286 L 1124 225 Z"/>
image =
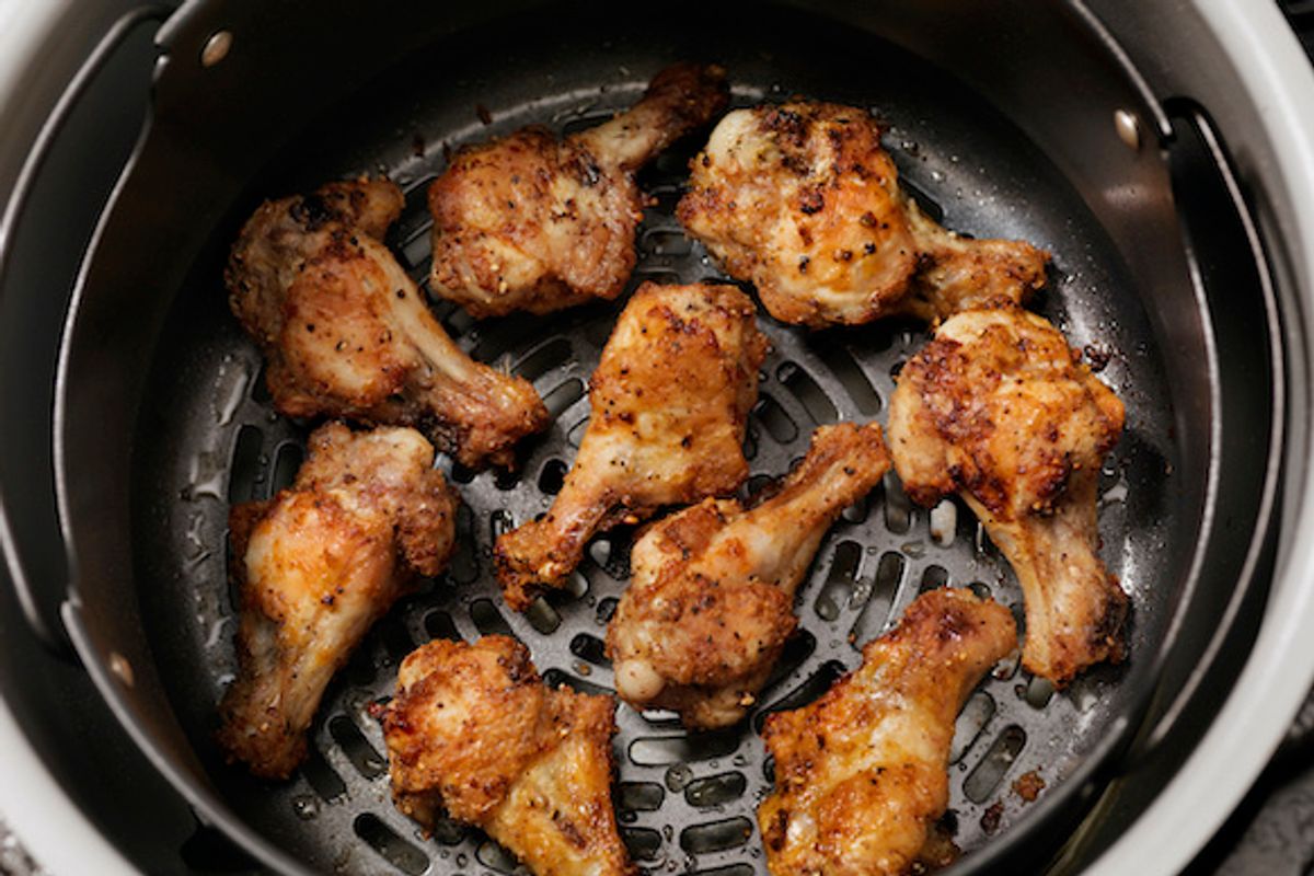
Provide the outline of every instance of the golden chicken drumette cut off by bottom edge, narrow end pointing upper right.
<path id="1" fill-rule="evenodd" d="M 909 872 L 949 805 L 958 711 L 1016 647 L 1007 608 L 970 590 L 932 590 L 821 699 L 767 717 L 775 791 L 757 818 L 771 873 Z"/>

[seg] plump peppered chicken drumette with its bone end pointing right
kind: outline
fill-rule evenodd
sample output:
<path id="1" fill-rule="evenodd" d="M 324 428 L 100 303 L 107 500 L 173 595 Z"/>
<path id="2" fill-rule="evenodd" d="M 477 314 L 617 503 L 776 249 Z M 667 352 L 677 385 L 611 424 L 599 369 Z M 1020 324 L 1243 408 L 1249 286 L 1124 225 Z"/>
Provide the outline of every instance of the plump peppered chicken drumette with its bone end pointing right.
<path id="1" fill-rule="evenodd" d="M 790 102 L 729 113 L 677 210 L 725 271 L 788 323 L 820 328 L 1020 302 L 1049 253 L 946 231 L 899 188 L 867 110 Z"/>

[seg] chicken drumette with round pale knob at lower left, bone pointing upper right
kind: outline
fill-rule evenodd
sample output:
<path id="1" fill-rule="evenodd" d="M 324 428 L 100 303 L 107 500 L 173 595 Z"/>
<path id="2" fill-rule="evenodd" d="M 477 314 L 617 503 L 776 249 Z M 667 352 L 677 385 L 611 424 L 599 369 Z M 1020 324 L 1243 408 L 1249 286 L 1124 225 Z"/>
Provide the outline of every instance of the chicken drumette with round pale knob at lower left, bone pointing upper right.
<path id="1" fill-rule="evenodd" d="M 794 632 L 794 591 L 821 537 L 888 469 L 879 426 L 824 426 L 756 508 L 704 499 L 650 525 L 607 628 L 620 697 L 698 729 L 742 718 Z"/>

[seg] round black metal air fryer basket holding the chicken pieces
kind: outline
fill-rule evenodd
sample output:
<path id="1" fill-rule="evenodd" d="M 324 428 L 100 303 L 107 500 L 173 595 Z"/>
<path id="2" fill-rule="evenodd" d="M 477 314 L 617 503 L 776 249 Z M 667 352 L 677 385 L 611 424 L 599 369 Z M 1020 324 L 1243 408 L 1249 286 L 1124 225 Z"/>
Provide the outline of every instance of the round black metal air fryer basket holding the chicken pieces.
<path id="1" fill-rule="evenodd" d="M 1184 246 L 1171 162 L 1156 143 L 1172 139 L 1173 120 L 1146 104 L 1080 8 L 1017 3 L 993 25 L 1000 51 L 1030 34 L 1045 38 L 1034 43 L 1039 63 L 1088 62 L 1053 75 L 1084 84 L 1092 118 L 1104 120 L 1099 134 L 1080 110 L 1046 120 L 1025 96 L 1001 100 L 1030 88 L 1025 71 L 964 81 L 951 72 L 989 68 L 978 55 L 966 53 L 961 70 L 946 68 L 943 56 L 918 58 L 966 39 L 972 22 L 954 4 L 929 4 L 959 13 L 937 32 L 937 11 L 917 5 L 892 4 L 876 22 L 894 42 L 869 33 L 871 22 L 854 11 L 844 24 L 757 7 L 670 8 L 633 21 L 589 5 L 485 9 L 460 14 L 487 21 L 460 25 L 434 11 L 376 13 L 409 28 L 405 39 L 418 51 L 396 64 L 364 50 L 359 68 L 348 63 L 355 46 L 369 45 L 372 28 L 392 32 L 377 21 L 353 32 L 352 20 L 335 16 L 343 9 L 317 7 L 323 21 L 298 28 L 289 16 L 217 18 L 213 5 L 197 4 L 171 22 L 154 127 L 84 265 L 66 336 L 60 502 L 78 574 L 64 619 L 121 718 L 205 821 L 288 871 L 510 872 L 514 862 L 477 831 L 444 825 L 424 838 L 392 808 L 368 707 L 392 692 L 397 663 L 418 644 L 493 632 L 524 641 L 549 682 L 608 690 L 602 637 L 625 586 L 632 536 L 598 538 L 572 588 L 527 615 L 502 604 L 493 540 L 545 510 L 560 487 L 589 414 L 587 377 L 624 299 L 478 323 L 435 305 L 476 359 L 533 381 L 555 424 L 523 445 L 514 474 L 443 460 L 465 502 L 460 552 L 335 679 L 305 768 L 271 784 L 225 766 L 212 733 L 234 671 L 226 511 L 286 483 L 311 426 L 273 414 L 260 356 L 227 311 L 221 273 L 238 225 L 263 197 L 385 172 L 407 192 L 389 243 L 423 281 L 424 188 L 449 150 L 530 122 L 558 131 L 597 123 L 636 100 L 665 63 L 706 59 L 728 68 L 736 105 L 799 93 L 870 106 L 890 126 L 886 146 L 904 184 L 949 227 L 1025 238 L 1054 253 L 1034 307 L 1092 359 L 1108 360 L 1101 377 L 1129 416 L 1102 471 L 1100 523 L 1102 556 L 1133 596 L 1130 659 L 1059 695 L 1016 665 L 999 667 L 958 721 L 950 767 L 950 822 L 968 852 L 957 868 L 1035 863 L 1062 842 L 1116 768 L 1164 667 L 1194 663 L 1208 644 L 1200 625 L 1230 621 L 1238 595 L 1254 591 L 1246 573 L 1263 541 L 1280 414 L 1271 314 L 1256 289 L 1223 297 L 1192 282 L 1192 240 Z M 206 67 L 201 46 L 219 26 L 233 33 L 233 50 Z M 330 72 L 330 63 L 347 70 Z M 231 89 L 248 104 L 223 96 Z M 288 118 L 279 117 L 280 101 Z M 1139 117 L 1139 147 L 1117 139 L 1113 106 Z M 700 138 L 640 177 L 656 204 L 640 230 L 632 285 L 725 281 L 673 217 Z M 1092 151 L 1085 160 L 1083 150 Z M 812 334 L 765 313 L 759 322 L 774 349 L 749 423 L 748 491 L 787 471 L 817 424 L 883 420 L 899 364 L 926 338 L 905 323 Z M 1244 382 L 1223 380 L 1218 349 Z M 1229 454 L 1226 478 L 1225 448 L 1250 450 Z M 620 707 L 616 802 L 641 867 L 765 872 L 753 818 L 770 784 L 762 718 L 817 696 L 920 591 L 971 584 L 1020 616 L 1007 562 L 971 514 L 953 507 L 953 532 L 933 537 L 929 515 L 890 477 L 845 512 L 802 587 L 800 632 L 745 725 L 686 734 L 670 714 Z M 1026 804 L 1010 783 L 1030 771 L 1047 787 Z"/>

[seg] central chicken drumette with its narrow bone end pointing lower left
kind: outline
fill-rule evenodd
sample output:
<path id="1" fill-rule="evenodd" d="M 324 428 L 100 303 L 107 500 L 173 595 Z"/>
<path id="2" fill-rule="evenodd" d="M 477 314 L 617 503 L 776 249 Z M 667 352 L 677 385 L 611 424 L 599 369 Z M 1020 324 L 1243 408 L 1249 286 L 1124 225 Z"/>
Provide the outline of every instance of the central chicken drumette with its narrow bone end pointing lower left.
<path id="1" fill-rule="evenodd" d="M 641 285 L 590 380 L 593 416 L 561 493 L 541 520 L 497 541 L 507 604 L 523 611 L 539 588 L 560 587 L 595 533 L 738 489 L 766 349 L 738 289 Z"/>

